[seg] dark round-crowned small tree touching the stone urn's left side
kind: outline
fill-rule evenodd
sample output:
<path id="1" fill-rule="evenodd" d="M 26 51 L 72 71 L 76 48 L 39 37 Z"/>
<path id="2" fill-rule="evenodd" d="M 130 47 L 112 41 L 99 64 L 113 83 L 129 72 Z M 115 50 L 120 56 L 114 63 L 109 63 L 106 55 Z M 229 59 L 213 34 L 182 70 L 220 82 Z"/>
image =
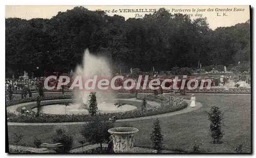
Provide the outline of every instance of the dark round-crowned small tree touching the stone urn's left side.
<path id="1" fill-rule="evenodd" d="M 108 130 L 113 127 L 111 122 L 104 121 L 100 117 L 95 116 L 81 129 L 81 135 L 90 143 L 100 143 L 102 151 L 102 143 L 108 141 L 110 137 Z"/>

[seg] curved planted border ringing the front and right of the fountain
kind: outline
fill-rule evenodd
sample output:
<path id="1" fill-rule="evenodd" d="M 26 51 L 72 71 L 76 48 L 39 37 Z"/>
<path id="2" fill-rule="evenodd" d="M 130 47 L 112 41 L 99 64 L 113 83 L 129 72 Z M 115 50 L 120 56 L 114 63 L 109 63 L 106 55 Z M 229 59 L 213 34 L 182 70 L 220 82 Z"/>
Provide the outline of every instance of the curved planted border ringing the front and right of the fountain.
<path id="1" fill-rule="evenodd" d="M 148 100 L 152 98 L 150 94 L 145 96 Z M 49 98 L 48 98 L 49 99 Z M 56 98 L 55 98 L 56 99 Z M 65 98 L 67 99 L 67 98 Z M 154 98 L 153 98 L 154 99 Z M 153 100 L 152 99 L 152 100 Z M 187 106 L 187 103 L 183 99 L 173 97 L 173 96 L 157 96 L 161 104 L 156 106 L 148 106 L 144 110 L 132 110 L 127 112 L 118 112 L 115 114 L 99 114 L 99 117 L 102 117 L 104 120 L 108 120 L 113 116 L 116 119 L 130 119 L 130 118 L 139 118 L 145 116 L 153 116 L 158 114 L 164 114 L 166 112 L 177 111 L 183 109 Z M 9 105 L 10 106 L 10 105 Z M 113 105 L 114 106 L 114 105 Z M 53 122 L 85 122 L 90 121 L 92 116 L 84 115 L 51 115 L 51 114 L 40 114 L 39 117 L 36 117 L 35 112 L 30 112 L 29 115 L 22 114 L 12 114 L 7 112 L 8 122 L 23 122 L 23 123 L 53 123 Z"/>

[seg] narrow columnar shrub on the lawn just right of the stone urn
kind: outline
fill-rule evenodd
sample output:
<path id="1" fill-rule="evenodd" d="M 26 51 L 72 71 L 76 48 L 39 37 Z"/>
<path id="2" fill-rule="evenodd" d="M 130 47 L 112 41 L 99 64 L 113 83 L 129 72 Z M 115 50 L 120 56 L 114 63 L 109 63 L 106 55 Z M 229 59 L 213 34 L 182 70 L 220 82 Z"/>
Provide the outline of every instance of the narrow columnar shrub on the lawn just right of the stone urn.
<path id="1" fill-rule="evenodd" d="M 161 134 L 161 125 L 158 118 L 154 120 L 153 131 L 150 139 L 152 141 L 153 148 L 160 153 L 163 149 L 163 135 Z"/>

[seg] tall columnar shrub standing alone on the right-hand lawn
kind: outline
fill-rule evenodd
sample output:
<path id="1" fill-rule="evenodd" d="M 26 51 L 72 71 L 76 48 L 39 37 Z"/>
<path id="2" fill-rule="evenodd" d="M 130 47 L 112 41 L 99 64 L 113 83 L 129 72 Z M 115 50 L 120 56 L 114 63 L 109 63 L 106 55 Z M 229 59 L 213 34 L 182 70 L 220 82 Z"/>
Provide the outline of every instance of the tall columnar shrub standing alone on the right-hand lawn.
<path id="1" fill-rule="evenodd" d="M 210 121 L 209 132 L 212 139 L 212 143 L 221 144 L 224 132 L 223 125 L 223 112 L 218 106 L 211 106 L 210 110 L 206 112 L 208 120 Z"/>

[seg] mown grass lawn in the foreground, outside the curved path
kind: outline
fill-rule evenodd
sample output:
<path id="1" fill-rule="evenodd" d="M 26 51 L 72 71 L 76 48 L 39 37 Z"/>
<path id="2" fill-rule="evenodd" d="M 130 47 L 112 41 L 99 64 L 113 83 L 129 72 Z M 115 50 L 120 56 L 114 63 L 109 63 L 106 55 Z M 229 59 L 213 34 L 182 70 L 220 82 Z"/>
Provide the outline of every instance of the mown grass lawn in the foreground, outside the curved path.
<path id="1" fill-rule="evenodd" d="M 189 99 L 189 95 L 185 99 Z M 159 118 L 164 135 L 164 146 L 170 150 L 191 151 L 195 140 L 202 142 L 200 150 L 204 152 L 233 152 L 241 143 L 244 152 L 251 152 L 251 101 L 250 95 L 196 95 L 197 101 L 203 104 L 199 110 L 172 117 Z M 208 135 L 209 121 L 205 114 L 211 106 L 219 106 L 224 112 L 223 127 L 225 131 L 223 144 L 211 144 Z M 116 123 L 119 126 L 121 123 Z M 135 146 L 151 147 L 150 133 L 153 120 L 129 122 L 139 129 L 135 134 Z M 39 136 L 44 143 L 51 143 L 51 136 L 57 126 L 8 126 L 9 142 L 13 144 L 11 134 L 23 133 L 20 145 L 34 146 L 33 137 Z M 80 139 L 82 125 L 67 125 L 67 129 L 74 134 L 74 145 Z"/>

